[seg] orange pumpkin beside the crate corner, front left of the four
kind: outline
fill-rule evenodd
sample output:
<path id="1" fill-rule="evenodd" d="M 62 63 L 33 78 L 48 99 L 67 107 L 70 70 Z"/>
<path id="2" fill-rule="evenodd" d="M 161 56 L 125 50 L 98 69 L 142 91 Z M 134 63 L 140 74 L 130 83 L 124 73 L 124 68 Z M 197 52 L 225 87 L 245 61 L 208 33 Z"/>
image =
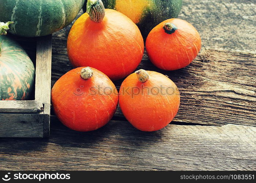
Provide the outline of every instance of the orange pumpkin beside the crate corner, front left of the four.
<path id="1" fill-rule="evenodd" d="M 90 67 L 64 74 L 52 88 L 52 105 L 58 119 L 76 131 L 92 131 L 113 117 L 118 105 L 114 83 Z"/>

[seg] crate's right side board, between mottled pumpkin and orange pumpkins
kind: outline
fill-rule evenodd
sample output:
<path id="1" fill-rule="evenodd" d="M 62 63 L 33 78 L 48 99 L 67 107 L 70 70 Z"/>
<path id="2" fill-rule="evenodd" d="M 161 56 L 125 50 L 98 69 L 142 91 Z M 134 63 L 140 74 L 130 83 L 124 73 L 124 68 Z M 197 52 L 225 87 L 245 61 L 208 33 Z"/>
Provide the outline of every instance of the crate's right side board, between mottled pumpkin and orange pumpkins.
<path id="1" fill-rule="evenodd" d="M 51 102 L 52 36 L 38 37 L 35 100 Z"/>

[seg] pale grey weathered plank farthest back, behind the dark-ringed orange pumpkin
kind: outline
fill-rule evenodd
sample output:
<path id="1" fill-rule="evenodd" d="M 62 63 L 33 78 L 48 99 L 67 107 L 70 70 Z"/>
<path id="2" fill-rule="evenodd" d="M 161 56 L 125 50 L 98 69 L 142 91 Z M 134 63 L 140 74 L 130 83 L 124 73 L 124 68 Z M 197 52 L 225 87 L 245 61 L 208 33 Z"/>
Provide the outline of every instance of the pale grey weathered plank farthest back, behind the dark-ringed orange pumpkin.
<path id="1" fill-rule="evenodd" d="M 196 27 L 207 49 L 256 53 L 255 0 L 183 0 L 178 18 Z"/>

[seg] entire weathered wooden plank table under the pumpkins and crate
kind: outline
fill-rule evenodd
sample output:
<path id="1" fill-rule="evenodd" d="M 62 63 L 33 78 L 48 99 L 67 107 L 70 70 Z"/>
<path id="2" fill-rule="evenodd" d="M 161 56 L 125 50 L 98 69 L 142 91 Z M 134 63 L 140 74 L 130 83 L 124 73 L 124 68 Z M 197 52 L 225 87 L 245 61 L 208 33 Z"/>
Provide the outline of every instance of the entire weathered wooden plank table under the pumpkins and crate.
<path id="1" fill-rule="evenodd" d="M 255 1 L 183 2 L 179 18 L 199 30 L 199 56 L 166 72 L 153 67 L 145 52 L 138 67 L 162 72 L 178 86 L 181 107 L 171 124 L 141 132 L 118 109 L 105 127 L 83 133 L 52 115 L 48 139 L 0 138 L 0 169 L 256 170 Z M 53 34 L 52 85 L 72 69 L 69 29 Z"/>

